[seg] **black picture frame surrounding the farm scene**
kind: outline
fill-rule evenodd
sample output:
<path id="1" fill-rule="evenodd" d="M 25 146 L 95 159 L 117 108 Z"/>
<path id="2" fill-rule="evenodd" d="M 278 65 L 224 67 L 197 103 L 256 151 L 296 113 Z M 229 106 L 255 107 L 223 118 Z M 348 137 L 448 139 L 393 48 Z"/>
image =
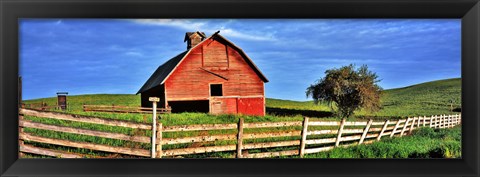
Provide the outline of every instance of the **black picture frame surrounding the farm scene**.
<path id="1" fill-rule="evenodd" d="M 1 176 L 479 176 L 478 0 L 1 0 Z M 19 18 L 461 18 L 462 159 L 18 159 Z"/>

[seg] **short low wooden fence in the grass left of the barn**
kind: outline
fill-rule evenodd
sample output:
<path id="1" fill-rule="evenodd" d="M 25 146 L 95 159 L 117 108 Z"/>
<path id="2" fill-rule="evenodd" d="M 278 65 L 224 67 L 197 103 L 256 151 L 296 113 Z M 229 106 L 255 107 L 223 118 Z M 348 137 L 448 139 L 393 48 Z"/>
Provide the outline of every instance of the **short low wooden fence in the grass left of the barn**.
<path id="1" fill-rule="evenodd" d="M 83 111 L 94 112 L 116 112 L 116 113 L 152 113 L 153 108 L 148 107 L 130 107 L 118 105 L 86 105 L 83 104 Z M 171 113 L 171 108 L 157 108 L 157 113 Z"/>

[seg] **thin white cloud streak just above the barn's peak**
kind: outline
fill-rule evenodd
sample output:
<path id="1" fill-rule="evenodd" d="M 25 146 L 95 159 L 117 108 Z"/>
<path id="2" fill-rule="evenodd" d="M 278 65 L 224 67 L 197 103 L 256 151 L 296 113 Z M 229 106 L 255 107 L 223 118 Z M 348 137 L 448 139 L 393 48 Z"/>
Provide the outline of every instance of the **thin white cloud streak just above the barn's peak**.
<path id="1" fill-rule="evenodd" d="M 158 26 L 170 26 L 187 31 L 202 31 L 206 33 L 214 33 L 220 30 L 220 33 L 223 36 L 239 38 L 244 40 L 251 41 L 273 41 L 275 38 L 271 35 L 261 35 L 261 34 L 249 34 L 245 32 L 240 32 L 225 26 L 219 27 L 218 25 L 210 25 L 207 22 L 194 22 L 188 19 L 135 19 L 131 20 L 135 23 L 145 24 L 145 25 L 158 25 Z M 227 21 L 227 23 L 229 23 Z M 224 24 L 226 25 L 226 24 Z"/>

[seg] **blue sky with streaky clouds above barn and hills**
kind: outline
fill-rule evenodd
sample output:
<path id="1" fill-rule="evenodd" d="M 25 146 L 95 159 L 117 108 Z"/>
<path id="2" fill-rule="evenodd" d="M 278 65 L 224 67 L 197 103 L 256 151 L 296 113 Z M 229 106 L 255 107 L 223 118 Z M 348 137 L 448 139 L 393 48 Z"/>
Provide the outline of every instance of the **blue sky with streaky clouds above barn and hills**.
<path id="1" fill-rule="evenodd" d="M 368 65 L 384 89 L 461 76 L 460 19 L 22 19 L 23 99 L 135 94 L 186 49 L 185 32 L 220 34 L 270 80 L 266 96 L 308 100 L 330 68 Z"/>

